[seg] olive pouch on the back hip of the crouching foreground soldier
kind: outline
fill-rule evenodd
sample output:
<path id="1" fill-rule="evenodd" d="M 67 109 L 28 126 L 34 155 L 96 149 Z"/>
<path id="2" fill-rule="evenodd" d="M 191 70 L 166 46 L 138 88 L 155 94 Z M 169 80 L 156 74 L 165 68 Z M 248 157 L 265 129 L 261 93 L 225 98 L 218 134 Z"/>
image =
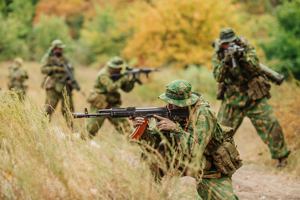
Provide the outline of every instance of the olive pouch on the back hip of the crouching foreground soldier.
<path id="1" fill-rule="evenodd" d="M 221 129 L 224 141 L 212 151 L 212 162 L 218 172 L 232 175 L 243 164 L 232 138 L 233 129 L 226 126 L 221 126 Z"/>

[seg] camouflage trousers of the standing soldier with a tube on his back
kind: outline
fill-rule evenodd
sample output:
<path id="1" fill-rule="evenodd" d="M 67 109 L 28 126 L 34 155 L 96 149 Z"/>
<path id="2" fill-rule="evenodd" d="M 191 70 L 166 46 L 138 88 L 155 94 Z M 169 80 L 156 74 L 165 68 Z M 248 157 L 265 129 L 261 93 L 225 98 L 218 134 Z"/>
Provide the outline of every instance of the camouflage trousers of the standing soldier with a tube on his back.
<path id="1" fill-rule="evenodd" d="M 234 131 L 246 116 L 250 118 L 258 135 L 270 148 L 273 159 L 282 158 L 290 153 L 274 111 L 265 97 L 252 101 L 242 108 L 227 105 L 223 100 L 218 113 L 219 124 L 232 127 Z"/>

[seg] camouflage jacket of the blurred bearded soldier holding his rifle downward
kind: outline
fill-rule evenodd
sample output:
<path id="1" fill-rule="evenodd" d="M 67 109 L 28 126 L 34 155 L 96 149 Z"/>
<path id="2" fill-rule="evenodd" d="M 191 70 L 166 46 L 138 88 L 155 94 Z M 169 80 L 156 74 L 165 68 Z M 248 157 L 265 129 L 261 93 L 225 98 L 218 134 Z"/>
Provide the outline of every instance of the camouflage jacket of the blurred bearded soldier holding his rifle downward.
<path id="1" fill-rule="evenodd" d="M 64 60 L 66 60 L 67 65 L 73 69 L 71 63 L 68 61 L 66 56 L 62 55 L 60 57 L 55 56 L 51 52 L 47 52 L 41 59 L 41 71 L 43 74 L 49 76 L 49 80 L 46 82 L 46 89 L 55 88 L 57 92 L 61 92 L 67 81 L 62 83 L 60 80 L 64 77 L 65 72 L 63 69 Z"/>

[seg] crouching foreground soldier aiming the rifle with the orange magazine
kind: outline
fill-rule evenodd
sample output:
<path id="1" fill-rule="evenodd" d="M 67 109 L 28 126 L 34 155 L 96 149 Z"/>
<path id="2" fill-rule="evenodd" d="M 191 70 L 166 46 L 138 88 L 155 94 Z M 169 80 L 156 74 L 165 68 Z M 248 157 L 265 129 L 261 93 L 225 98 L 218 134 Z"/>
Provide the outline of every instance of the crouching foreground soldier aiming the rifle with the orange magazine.
<path id="1" fill-rule="evenodd" d="M 161 142 L 162 138 L 160 136 L 160 130 L 170 131 L 170 134 L 166 135 L 167 140 L 171 143 L 176 143 L 173 147 L 177 146 L 180 148 L 184 154 L 183 160 L 187 160 L 190 157 L 193 160 L 193 157 L 199 155 L 199 152 L 203 152 L 206 158 L 205 166 L 209 167 L 205 167 L 202 180 L 196 186 L 201 198 L 238 199 L 233 193 L 231 176 L 219 173 L 214 165 L 208 165 L 208 163 L 211 163 L 209 159 L 211 159 L 212 150 L 216 149 L 224 141 L 223 131 L 217 122 L 214 110 L 210 108 L 210 103 L 203 95 L 191 92 L 191 85 L 185 80 L 175 80 L 169 83 L 165 93 L 161 94 L 159 98 L 167 102 L 166 108 L 168 109 L 189 109 L 190 117 L 186 120 L 174 118 L 174 121 L 171 121 L 168 118 L 154 115 L 160 121 L 151 123 L 149 128 L 145 129 L 141 139 L 148 141 L 148 144 L 157 149 L 165 160 L 168 160 L 166 155 L 169 155 L 169 159 L 171 158 L 172 160 L 171 151 L 167 147 L 166 142 Z M 145 123 L 142 117 L 134 119 L 129 117 L 129 119 L 132 120 L 134 127 Z M 201 161 L 199 160 L 199 162 Z M 168 161 L 166 164 L 170 166 Z M 179 170 L 184 168 L 181 165 Z M 194 169 L 194 171 L 197 170 Z M 152 165 L 152 171 L 158 178 L 164 175 L 161 170 L 157 169 L 156 165 Z M 199 174 L 196 173 L 195 175 L 194 173 L 192 173 L 194 177 L 196 179 L 199 178 Z"/>

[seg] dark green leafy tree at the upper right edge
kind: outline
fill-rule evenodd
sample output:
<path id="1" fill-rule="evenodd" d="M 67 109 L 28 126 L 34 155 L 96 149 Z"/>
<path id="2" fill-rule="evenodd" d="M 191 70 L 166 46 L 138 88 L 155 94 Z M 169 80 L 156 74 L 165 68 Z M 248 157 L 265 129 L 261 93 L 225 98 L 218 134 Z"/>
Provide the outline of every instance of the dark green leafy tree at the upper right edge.
<path id="1" fill-rule="evenodd" d="M 270 29 L 270 41 L 261 46 L 273 68 L 286 77 L 300 80 L 300 0 L 277 6 L 277 26 Z"/>

